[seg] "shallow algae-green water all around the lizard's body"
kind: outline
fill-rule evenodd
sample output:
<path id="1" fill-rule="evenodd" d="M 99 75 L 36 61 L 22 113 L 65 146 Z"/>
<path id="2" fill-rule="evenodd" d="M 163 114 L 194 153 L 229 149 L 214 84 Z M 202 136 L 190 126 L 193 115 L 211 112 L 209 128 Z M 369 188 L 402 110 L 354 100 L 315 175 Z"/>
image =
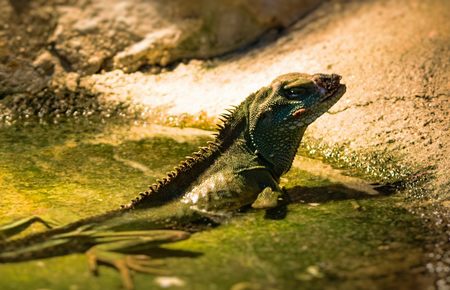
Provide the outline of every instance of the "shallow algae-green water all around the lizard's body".
<path id="1" fill-rule="evenodd" d="M 209 140 L 208 134 L 82 121 L 0 128 L 0 223 L 29 215 L 67 223 L 117 208 Z M 302 159 L 283 177 L 293 200 L 287 208 L 250 210 L 165 246 L 188 254 L 164 259 L 169 277 L 134 275 L 136 289 L 163 289 L 162 281 L 175 281 L 169 289 L 218 290 L 430 285 L 427 228 L 405 209 L 401 194 L 372 196 L 364 181 L 302 164 L 317 162 Z M 91 275 L 81 254 L 0 265 L 5 290 L 121 287 L 113 269 Z"/>

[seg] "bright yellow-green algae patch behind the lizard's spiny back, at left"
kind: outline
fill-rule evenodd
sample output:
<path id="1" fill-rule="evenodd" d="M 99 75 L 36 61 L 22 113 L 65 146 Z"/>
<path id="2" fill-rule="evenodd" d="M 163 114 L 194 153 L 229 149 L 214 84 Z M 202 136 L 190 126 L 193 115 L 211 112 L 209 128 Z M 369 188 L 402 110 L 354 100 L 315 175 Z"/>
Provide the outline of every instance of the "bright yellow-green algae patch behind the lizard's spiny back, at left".
<path id="1" fill-rule="evenodd" d="M 116 145 L 95 141 L 111 127 L 68 122 L 0 128 L 0 222 L 27 214 L 68 222 L 116 208 L 204 143 L 167 136 Z"/>

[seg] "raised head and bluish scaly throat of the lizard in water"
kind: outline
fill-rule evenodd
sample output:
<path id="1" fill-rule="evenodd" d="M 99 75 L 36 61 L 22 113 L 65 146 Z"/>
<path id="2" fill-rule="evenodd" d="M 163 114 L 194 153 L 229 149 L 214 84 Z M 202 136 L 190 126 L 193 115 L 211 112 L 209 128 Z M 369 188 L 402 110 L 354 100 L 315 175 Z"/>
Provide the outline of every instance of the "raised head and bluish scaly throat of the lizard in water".
<path id="1" fill-rule="evenodd" d="M 289 73 L 255 94 L 249 104 L 249 141 L 276 175 L 291 167 L 303 133 L 345 93 L 336 74 Z"/>

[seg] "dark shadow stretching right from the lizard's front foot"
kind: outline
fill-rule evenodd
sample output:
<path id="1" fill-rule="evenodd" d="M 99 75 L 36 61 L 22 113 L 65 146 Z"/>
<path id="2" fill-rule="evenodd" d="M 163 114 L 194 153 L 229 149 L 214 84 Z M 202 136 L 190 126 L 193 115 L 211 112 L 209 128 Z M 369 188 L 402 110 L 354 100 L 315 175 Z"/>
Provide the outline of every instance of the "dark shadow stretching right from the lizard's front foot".
<path id="1" fill-rule="evenodd" d="M 277 207 L 266 210 L 265 219 L 281 220 L 287 216 L 288 205 L 298 203 L 327 203 L 331 201 L 341 200 L 360 200 L 379 198 L 395 193 L 396 186 L 374 185 L 378 194 L 368 194 L 365 191 L 357 190 L 345 186 L 344 184 L 332 184 L 324 186 L 294 186 L 285 190 L 283 195 L 283 202 Z"/>

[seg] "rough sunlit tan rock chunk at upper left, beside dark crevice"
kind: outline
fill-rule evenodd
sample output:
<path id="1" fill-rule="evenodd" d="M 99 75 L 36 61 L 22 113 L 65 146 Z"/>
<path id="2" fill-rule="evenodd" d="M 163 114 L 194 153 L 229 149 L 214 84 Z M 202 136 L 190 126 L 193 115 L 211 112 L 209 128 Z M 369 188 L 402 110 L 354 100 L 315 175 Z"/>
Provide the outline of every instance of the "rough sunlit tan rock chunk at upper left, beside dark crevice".
<path id="1" fill-rule="evenodd" d="M 89 8 L 58 8 L 61 16 L 48 42 L 66 71 L 99 72 L 118 51 L 137 40 L 124 22 L 103 15 L 102 9 L 109 5 L 100 4 L 96 2 Z"/>

